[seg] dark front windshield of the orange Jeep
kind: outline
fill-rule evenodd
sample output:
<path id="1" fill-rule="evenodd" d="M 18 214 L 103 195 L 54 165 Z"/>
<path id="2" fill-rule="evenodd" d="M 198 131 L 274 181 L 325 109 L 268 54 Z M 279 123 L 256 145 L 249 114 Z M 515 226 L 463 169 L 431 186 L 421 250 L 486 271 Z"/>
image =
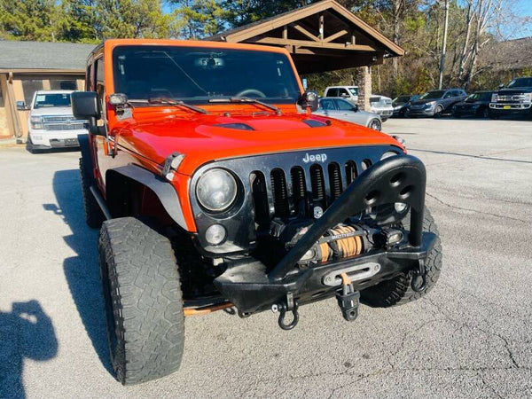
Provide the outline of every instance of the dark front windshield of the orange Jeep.
<path id="1" fill-rule="evenodd" d="M 206 104 L 236 96 L 291 104 L 300 96 L 286 55 L 185 46 L 121 46 L 113 51 L 114 91 L 129 99 Z"/>

